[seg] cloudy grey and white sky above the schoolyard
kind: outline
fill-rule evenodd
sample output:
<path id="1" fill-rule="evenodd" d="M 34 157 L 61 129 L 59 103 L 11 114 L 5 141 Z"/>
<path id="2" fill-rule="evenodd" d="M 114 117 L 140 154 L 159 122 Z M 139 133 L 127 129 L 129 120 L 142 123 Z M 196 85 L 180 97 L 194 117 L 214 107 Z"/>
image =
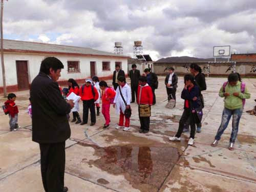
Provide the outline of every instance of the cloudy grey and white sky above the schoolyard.
<path id="1" fill-rule="evenodd" d="M 255 0 L 9 0 L 4 38 L 89 47 L 113 52 L 133 41 L 154 60 L 212 57 L 213 46 L 256 52 Z"/>

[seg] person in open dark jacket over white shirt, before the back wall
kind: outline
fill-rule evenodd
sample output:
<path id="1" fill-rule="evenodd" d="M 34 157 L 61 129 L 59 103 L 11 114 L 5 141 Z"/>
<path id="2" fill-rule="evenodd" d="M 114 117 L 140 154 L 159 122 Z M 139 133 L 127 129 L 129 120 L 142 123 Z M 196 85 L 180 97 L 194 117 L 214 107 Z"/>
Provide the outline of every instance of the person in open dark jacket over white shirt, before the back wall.
<path id="1" fill-rule="evenodd" d="M 178 87 L 177 86 L 178 76 L 174 73 L 173 67 L 170 67 L 168 70 L 169 70 L 169 74 L 166 75 L 164 80 L 164 84 L 166 86 L 167 98 L 168 100 L 170 100 L 171 99 L 170 95 L 171 95 L 172 98 L 176 101 L 176 89 Z"/>

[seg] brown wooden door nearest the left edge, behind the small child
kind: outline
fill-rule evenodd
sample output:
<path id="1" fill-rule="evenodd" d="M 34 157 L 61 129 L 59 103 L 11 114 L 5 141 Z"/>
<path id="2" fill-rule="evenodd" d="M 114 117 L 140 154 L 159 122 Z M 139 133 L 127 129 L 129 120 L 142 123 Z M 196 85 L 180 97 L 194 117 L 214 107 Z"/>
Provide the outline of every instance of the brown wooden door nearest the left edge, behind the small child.
<path id="1" fill-rule="evenodd" d="M 28 61 L 16 60 L 18 90 L 29 89 Z"/>

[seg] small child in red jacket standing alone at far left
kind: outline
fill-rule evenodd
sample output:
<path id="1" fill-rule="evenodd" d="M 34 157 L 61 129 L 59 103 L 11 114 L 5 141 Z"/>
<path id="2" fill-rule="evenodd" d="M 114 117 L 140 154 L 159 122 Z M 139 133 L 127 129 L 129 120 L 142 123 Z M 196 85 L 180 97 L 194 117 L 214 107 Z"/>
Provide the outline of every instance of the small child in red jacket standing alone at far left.
<path id="1" fill-rule="evenodd" d="M 10 131 L 16 131 L 17 128 L 20 128 L 20 126 L 18 126 L 18 107 L 14 102 L 16 100 L 16 95 L 14 93 L 10 93 L 7 98 L 8 100 L 5 102 L 5 105 L 9 112 Z"/>

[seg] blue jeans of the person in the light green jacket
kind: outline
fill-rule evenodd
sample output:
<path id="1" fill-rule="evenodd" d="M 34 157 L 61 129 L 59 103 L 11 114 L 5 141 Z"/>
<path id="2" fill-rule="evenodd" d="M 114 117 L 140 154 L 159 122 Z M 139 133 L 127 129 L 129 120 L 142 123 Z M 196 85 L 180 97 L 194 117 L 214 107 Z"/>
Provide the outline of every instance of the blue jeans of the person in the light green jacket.
<path id="1" fill-rule="evenodd" d="M 216 140 L 221 139 L 221 135 L 223 134 L 223 132 L 227 128 L 229 120 L 230 120 L 231 116 L 233 115 L 233 118 L 232 118 L 232 133 L 231 133 L 229 142 L 234 143 L 234 141 L 236 140 L 237 135 L 238 135 L 238 126 L 239 126 L 239 121 L 240 121 L 240 118 L 242 116 L 242 113 L 243 113 L 242 108 L 241 109 L 235 109 L 235 110 L 229 110 L 227 108 L 224 108 L 224 110 L 222 112 L 221 125 L 219 127 L 219 130 L 218 130 L 216 136 L 215 136 L 215 139 Z"/>

